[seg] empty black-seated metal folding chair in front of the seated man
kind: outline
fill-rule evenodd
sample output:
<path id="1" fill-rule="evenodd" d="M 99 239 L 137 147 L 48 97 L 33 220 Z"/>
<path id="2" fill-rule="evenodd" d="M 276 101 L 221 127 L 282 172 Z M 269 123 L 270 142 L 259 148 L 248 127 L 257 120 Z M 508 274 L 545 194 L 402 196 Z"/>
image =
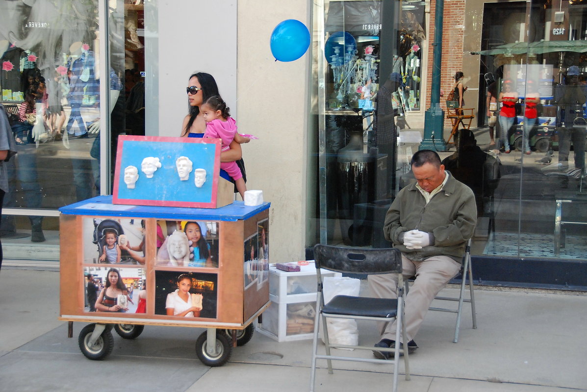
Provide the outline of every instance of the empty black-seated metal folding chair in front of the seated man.
<path id="1" fill-rule="evenodd" d="M 314 340 L 312 345 L 312 374 L 310 377 L 310 391 L 313 392 L 316 379 L 316 359 L 326 359 L 328 373 L 332 374 L 332 360 L 354 362 L 373 362 L 393 364 L 393 392 L 397 391 L 397 376 L 400 353 L 404 353 L 404 367 L 406 380 L 410 380 L 408 350 L 400 348 L 400 336 L 406 336 L 404 322 L 404 299 L 402 278 L 402 254 L 397 249 L 352 249 L 326 245 L 314 247 L 316 277 L 318 278 L 318 298 L 316 299 L 316 316 L 314 320 Z M 328 304 L 324 304 L 322 295 L 322 275 L 320 269 L 343 272 L 355 275 L 397 274 L 397 299 L 369 298 L 359 296 L 337 295 Z M 397 319 L 396 345 L 394 348 L 377 347 L 383 352 L 393 352 L 393 360 L 335 356 L 330 353 L 332 347 L 373 350 L 373 346 L 353 346 L 331 344 L 328 339 L 326 319 L 350 318 L 383 322 L 383 330 L 389 322 Z M 318 354 L 318 330 L 322 320 L 326 354 Z M 401 328 L 401 329 L 400 329 Z M 400 334 L 400 332 L 403 332 Z M 405 338 L 404 338 L 405 339 Z M 407 340 L 403 342 L 407 347 Z"/>

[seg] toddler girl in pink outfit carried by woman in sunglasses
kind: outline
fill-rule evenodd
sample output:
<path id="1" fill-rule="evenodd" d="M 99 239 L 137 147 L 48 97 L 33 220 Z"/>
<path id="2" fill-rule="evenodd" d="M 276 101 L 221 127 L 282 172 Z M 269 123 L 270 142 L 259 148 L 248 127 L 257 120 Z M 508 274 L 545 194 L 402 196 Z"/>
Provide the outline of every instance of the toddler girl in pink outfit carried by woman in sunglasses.
<path id="1" fill-rule="evenodd" d="M 221 139 L 221 151 L 230 150 L 232 141 L 238 144 L 248 143 L 250 139 L 237 132 L 237 122 L 230 117 L 230 108 L 219 96 L 212 96 L 205 100 L 201 105 L 200 111 L 206 122 L 206 131 L 204 138 Z M 242 178 L 241 169 L 236 162 L 221 162 L 220 168 L 224 169 L 237 185 L 238 193 L 241 194 L 242 200 L 245 199 L 247 185 Z"/>

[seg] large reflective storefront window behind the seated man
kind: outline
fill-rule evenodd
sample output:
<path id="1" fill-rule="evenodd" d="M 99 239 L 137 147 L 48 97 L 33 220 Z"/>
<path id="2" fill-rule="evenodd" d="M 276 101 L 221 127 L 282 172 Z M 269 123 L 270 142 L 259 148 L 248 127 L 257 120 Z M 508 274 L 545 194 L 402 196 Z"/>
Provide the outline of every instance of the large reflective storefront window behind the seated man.
<path id="1" fill-rule="evenodd" d="M 402 114 L 432 110 L 419 92 L 431 91 L 433 32 L 427 27 L 436 26 L 420 19 L 419 3 L 407 4 L 414 5 L 411 14 L 404 5 L 324 0 L 315 8 L 320 203 L 310 218 L 316 227 L 310 246 L 390 246 L 383 240 L 384 215 L 397 190 L 413 181 L 410 158 L 425 136 L 424 124 L 403 127 Z M 430 15 L 434 8 L 430 2 Z M 587 257 L 586 9 L 566 0 L 444 4 L 443 32 L 450 40 L 443 42 L 440 86 L 448 93 L 463 71 L 473 121 L 447 144 L 446 118 L 426 148 L 436 149 L 475 192 L 478 257 Z M 365 104 L 367 90 L 373 99 Z"/>

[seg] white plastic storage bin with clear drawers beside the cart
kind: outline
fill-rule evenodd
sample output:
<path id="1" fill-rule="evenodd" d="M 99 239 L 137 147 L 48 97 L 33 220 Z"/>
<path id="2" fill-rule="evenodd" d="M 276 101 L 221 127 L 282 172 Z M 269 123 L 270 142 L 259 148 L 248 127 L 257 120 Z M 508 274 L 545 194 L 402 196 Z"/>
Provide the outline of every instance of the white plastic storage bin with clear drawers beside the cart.
<path id="1" fill-rule="evenodd" d="M 316 267 L 313 261 L 299 272 L 269 266 L 269 299 L 259 332 L 278 342 L 312 339 L 316 315 Z M 323 276 L 340 277 L 340 272 L 321 270 Z"/>

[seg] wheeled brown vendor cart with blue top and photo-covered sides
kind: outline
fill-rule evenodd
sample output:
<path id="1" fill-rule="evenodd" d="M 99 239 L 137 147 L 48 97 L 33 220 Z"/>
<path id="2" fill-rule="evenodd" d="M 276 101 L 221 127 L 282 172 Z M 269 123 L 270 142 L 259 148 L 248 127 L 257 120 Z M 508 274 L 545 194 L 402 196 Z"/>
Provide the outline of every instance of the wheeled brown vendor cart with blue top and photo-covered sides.
<path id="1" fill-rule="evenodd" d="M 59 318 L 69 322 L 69 338 L 74 321 L 89 323 L 79 334 L 79 347 L 87 358 L 101 360 L 112 352 L 112 329 L 122 338 L 134 339 L 145 325 L 206 328 L 195 341 L 197 356 L 208 366 L 222 366 L 232 347 L 251 339 L 254 320 L 269 306 L 269 206 L 136 206 L 97 196 L 62 207 Z M 181 261 L 168 247 L 171 236 L 193 222 L 201 227 L 209 250 L 201 263 L 193 256 Z M 122 242 L 129 249 L 114 263 L 103 257 L 104 233 L 114 233 L 116 246 Z M 136 287 L 134 305 L 128 304 L 126 312 L 92 312 L 93 306 L 87 306 L 92 304 L 85 303 L 86 277 L 96 277 L 99 287 L 112 268 L 126 287 Z M 179 275 L 188 275 L 190 293 L 203 298 L 198 314 L 167 314 L 166 301 L 177 288 Z M 144 313 L 137 313 L 137 293 L 143 284 L 146 306 Z"/>

